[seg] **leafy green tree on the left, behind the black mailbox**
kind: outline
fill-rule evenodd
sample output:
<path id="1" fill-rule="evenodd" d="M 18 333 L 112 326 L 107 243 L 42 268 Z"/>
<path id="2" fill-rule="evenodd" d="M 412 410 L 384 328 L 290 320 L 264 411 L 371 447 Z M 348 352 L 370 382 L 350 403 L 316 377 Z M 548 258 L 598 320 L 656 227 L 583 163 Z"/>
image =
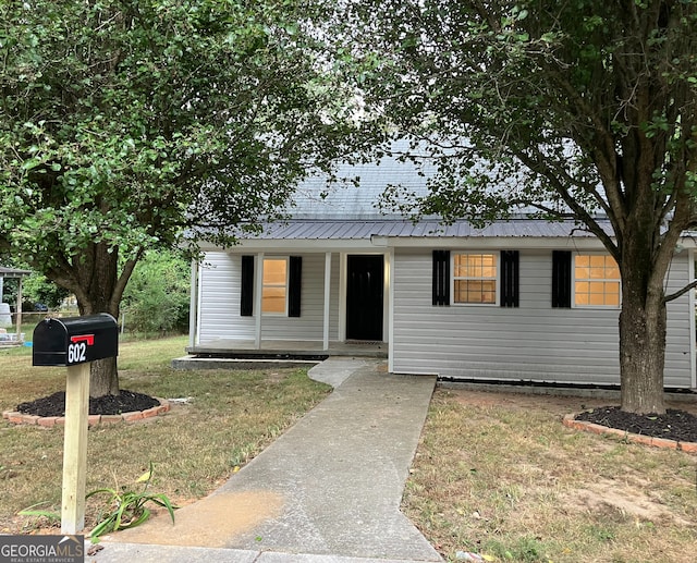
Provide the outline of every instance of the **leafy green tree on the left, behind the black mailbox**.
<path id="1" fill-rule="evenodd" d="M 341 147 L 305 28 L 295 0 L 3 1 L 0 249 L 118 316 L 146 248 L 273 216 Z"/>

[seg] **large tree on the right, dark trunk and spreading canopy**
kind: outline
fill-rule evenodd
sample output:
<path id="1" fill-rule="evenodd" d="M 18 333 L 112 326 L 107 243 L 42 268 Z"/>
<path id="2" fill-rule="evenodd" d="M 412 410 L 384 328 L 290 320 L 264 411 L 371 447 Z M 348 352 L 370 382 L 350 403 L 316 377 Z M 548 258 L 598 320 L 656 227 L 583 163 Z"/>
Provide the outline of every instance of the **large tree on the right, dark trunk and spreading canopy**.
<path id="1" fill-rule="evenodd" d="M 339 68 L 358 78 L 367 114 L 426 139 L 439 163 L 416 212 L 490 220 L 522 205 L 583 223 L 622 272 L 623 408 L 662 412 L 665 302 L 676 297 L 663 281 L 697 224 L 697 2 L 341 10 Z"/>

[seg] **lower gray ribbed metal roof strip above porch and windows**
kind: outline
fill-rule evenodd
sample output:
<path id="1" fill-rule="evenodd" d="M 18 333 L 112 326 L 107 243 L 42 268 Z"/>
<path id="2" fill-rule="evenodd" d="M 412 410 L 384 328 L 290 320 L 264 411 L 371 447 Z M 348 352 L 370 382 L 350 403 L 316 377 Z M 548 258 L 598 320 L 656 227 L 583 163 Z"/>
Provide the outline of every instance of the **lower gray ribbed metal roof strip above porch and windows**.
<path id="1" fill-rule="evenodd" d="M 370 240 L 372 236 L 396 238 L 423 237 L 570 237 L 594 236 L 573 221 L 549 222 L 542 219 L 497 221 L 482 229 L 467 221 L 442 225 L 437 220 L 414 223 L 407 220 L 291 220 L 264 225 L 258 240 Z M 244 236 L 242 236 L 244 238 Z"/>

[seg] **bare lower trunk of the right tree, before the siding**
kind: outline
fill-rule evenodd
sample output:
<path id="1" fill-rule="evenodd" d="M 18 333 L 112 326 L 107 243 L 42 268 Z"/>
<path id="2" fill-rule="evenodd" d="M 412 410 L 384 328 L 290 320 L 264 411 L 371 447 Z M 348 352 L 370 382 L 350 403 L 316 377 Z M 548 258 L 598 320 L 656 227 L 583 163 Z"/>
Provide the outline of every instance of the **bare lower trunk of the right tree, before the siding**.
<path id="1" fill-rule="evenodd" d="M 622 411 L 664 414 L 667 310 L 662 285 L 651 287 L 636 262 L 622 272 L 620 374 Z M 661 277 L 662 279 L 662 277 Z"/>

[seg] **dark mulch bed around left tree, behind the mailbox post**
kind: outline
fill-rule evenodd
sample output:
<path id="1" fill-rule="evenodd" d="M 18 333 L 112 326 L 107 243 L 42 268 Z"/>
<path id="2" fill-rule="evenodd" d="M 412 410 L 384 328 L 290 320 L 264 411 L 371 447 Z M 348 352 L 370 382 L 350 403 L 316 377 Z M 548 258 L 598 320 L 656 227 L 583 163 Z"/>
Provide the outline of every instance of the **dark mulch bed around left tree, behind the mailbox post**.
<path id="1" fill-rule="evenodd" d="M 90 415 L 120 415 L 134 411 L 146 411 L 158 406 L 160 402 L 143 393 L 121 390 L 119 395 L 89 397 Z M 37 416 L 65 416 L 65 392 L 17 405 L 17 412 Z"/>

